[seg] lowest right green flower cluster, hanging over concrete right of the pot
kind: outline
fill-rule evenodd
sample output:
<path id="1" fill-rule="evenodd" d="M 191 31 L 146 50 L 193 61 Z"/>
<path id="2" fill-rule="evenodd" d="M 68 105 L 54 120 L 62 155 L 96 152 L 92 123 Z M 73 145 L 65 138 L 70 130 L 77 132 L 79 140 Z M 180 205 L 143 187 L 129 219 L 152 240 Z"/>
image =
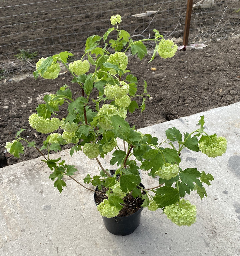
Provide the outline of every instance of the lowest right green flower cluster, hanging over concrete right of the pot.
<path id="1" fill-rule="evenodd" d="M 180 203 L 166 206 L 164 213 L 168 219 L 178 226 L 191 226 L 196 222 L 197 210 L 188 200 L 180 199 Z"/>

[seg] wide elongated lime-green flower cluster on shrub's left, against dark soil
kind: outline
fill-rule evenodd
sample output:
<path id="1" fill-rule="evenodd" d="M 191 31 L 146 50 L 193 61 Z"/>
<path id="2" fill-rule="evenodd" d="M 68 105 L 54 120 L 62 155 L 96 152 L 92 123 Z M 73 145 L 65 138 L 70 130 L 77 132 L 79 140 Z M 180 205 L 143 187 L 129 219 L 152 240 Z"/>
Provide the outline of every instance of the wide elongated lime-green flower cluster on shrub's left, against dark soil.
<path id="1" fill-rule="evenodd" d="M 28 121 L 30 126 L 40 133 L 51 133 L 57 130 L 62 123 L 61 120 L 56 117 L 44 119 L 36 113 L 32 114 L 28 118 Z"/>

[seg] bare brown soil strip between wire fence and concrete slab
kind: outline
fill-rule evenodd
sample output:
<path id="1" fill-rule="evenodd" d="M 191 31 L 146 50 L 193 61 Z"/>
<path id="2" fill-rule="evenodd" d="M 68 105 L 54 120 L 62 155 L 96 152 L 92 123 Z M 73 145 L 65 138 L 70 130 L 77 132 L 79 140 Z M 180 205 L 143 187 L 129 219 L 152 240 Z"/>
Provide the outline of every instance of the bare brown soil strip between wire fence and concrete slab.
<path id="1" fill-rule="evenodd" d="M 24 2 L 29 1 L 22 1 Z M 40 22 L 35 26 L 38 24 L 42 26 Z M 108 24 L 102 25 L 106 27 Z M 141 128 L 238 102 L 239 43 L 239 37 L 211 40 L 202 49 L 178 51 L 172 59 L 157 56 L 151 63 L 147 63 L 151 58 L 151 45 L 149 55 L 142 61 L 130 56 L 128 69 L 138 78 L 139 90 L 143 88 L 143 80 L 146 80 L 151 95 L 143 113 L 139 110 L 129 113 L 127 120 L 130 125 Z M 151 68 L 156 68 L 156 71 Z M 35 140 L 37 146 L 41 147 L 46 135 L 33 130 L 28 124 L 28 117 L 42 103 L 46 93 L 55 93 L 64 84 L 68 84 L 77 97 L 79 88 L 71 84 L 71 79 L 69 74 L 64 73 L 56 80 L 34 80 L 31 71 L 0 81 L 0 167 L 40 156 L 33 148 L 26 147 L 25 154 L 17 159 L 10 156 L 4 146 L 7 141 L 15 138 L 17 130 L 23 128 L 26 131 L 22 136 L 30 141 Z M 66 112 L 60 110 L 59 117 L 64 116 Z M 69 147 L 71 145 L 63 148 Z"/>

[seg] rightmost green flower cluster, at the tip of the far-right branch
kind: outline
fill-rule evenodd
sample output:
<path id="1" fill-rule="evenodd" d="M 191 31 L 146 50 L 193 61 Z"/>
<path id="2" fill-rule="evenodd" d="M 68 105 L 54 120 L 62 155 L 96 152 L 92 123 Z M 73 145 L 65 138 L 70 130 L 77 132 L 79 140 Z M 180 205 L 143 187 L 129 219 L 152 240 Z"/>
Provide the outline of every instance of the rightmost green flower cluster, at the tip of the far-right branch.
<path id="1" fill-rule="evenodd" d="M 227 140 L 224 137 L 214 136 L 199 142 L 200 151 L 208 157 L 221 156 L 227 150 Z"/>

